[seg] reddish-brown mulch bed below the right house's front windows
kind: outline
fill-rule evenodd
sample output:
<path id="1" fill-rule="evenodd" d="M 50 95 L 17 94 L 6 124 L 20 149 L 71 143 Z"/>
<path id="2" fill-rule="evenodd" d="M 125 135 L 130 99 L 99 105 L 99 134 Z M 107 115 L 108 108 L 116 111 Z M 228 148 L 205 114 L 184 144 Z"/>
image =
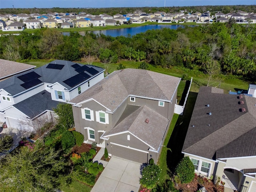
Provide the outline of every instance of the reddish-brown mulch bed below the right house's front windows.
<path id="1" fill-rule="evenodd" d="M 176 188 L 182 192 L 197 192 L 201 187 L 205 187 L 207 192 L 224 192 L 224 186 L 215 185 L 211 180 L 198 175 L 189 184 L 178 184 Z"/>

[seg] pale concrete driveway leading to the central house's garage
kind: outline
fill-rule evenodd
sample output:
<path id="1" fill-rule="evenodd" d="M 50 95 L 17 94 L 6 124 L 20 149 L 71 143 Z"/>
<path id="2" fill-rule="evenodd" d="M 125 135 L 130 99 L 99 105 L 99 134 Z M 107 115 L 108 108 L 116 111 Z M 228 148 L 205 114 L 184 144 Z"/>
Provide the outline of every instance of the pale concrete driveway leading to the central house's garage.
<path id="1" fill-rule="evenodd" d="M 138 192 L 140 163 L 112 157 L 91 192 Z"/>

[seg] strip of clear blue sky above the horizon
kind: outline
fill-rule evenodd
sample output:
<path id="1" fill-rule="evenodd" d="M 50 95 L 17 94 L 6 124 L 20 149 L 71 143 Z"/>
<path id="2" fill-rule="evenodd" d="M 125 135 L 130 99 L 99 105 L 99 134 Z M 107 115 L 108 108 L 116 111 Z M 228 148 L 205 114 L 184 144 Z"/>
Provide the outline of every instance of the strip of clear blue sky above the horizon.
<path id="1" fill-rule="evenodd" d="M 255 5 L 256 0 L 0 0 L 0 8 L 104 8 Z"/>

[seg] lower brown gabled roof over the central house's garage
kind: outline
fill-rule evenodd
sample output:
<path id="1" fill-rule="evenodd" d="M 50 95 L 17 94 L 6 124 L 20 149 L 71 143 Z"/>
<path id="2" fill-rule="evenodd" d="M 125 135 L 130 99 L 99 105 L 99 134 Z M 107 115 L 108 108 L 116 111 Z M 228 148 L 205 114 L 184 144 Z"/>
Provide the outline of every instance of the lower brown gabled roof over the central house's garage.
<path id="1" fill-rule="evenodd" d="M 102 137 L 107 138 L 113 134 L 130 132 L 146 142 L 152 149 L 158 150 L 170 120 L 146 105 L 141 107 L 127 105 L 123 114 L 126 114 L 126 110 L 130 111 L 130 108 L 136 110 L 119 122 L 112 130 L 106 131 Z M 149 120 L 148 123 L 145 122 L 146 119 Z"/>

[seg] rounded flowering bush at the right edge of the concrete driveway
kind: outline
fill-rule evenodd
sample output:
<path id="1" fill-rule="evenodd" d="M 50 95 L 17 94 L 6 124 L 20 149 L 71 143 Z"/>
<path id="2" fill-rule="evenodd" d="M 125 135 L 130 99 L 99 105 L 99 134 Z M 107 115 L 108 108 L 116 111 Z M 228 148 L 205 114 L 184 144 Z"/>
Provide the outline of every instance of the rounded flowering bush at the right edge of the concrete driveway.
<path id="1" fill-rule="evenodd" d="M 161 170 L 158 165 L 148 165 L 142 170 L 140 184 L 147 189 L 154 188 L 159 183 Z"/>

